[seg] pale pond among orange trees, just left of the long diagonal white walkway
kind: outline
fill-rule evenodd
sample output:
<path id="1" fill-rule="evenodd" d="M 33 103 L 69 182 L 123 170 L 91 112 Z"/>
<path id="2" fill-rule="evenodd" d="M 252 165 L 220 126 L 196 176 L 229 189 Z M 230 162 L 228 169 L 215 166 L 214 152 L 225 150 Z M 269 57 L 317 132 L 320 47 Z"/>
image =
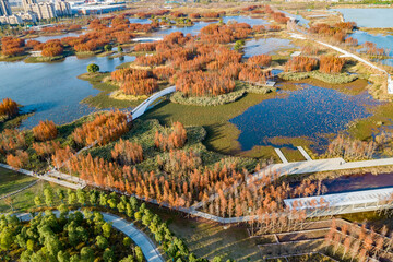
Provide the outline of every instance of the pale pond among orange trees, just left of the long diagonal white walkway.
<path id="1" fill-rule="evenodd" d="M 246 41 L 245 57 L 249 58 L 262 53 L 270 53 L 283 48 L 291 48 L 294 45 L 288 39 L 282 38 L 259 38 Z"/>

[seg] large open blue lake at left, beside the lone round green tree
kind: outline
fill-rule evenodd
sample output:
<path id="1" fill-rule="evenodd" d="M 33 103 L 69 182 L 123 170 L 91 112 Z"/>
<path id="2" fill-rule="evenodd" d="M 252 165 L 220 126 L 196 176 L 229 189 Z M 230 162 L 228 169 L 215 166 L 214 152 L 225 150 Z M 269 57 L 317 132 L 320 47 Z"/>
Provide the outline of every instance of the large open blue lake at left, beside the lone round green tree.
<path id="1" fill-rule="evenodd" d="M 134 57 L 68 57 L 53 63 L 1 62 L 0 98 L 10 97 L 23 105 L 24 111 L 36 111 L 23 121 L 21 128 L 32 128 L 45 119 L 58 124 L 67 123 L 95 110 L 80 102 L 99 91 L 94 90 L 88 81 L 76 78 L 86 72 L 90 63 L 97 63 L 104 72 L 133 60 Z"/>

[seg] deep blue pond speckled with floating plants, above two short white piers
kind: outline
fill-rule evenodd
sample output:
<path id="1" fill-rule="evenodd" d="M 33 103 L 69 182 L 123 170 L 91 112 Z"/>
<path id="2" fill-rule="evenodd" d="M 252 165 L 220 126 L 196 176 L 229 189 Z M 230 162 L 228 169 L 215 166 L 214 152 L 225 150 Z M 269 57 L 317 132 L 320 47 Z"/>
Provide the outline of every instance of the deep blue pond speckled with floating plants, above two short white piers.
<path id="1" fill-rule="evenodd" d="M 284 97 L 264 100 L 229 121 L 241 131 L 243 151 L 255 145 L 274 145 L 275 136 L 313 139 L 320 151 L 327 144 L 325 134 L 337 133 L 347 123 L 370 116 L 367 106 L 376 105 L 370 95 L 346 95 L 335 90 L 302 84 L 301 90 L 279 92 Z"/>

